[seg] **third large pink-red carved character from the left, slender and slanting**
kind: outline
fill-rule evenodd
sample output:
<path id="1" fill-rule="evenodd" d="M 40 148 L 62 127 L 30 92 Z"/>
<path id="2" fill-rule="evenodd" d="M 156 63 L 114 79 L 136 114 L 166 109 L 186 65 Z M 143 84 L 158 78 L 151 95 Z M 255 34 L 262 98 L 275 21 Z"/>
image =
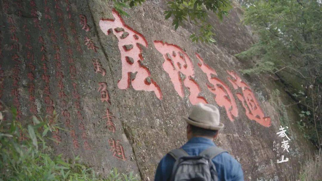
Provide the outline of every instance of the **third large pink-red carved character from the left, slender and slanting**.
<path id="1" fill-rule="evenodd" d="M 218 77 L 215 77 L 217 76 L 216 71 L 205 64 L 204 59 L 202 59 L 199 54 L 196 53 L 196 56 L 200 61 L 198 66 L 205 74 L 207 74 L 208 81 L 212 84 L 207 84 L 207 86 L 210 92 L 215 95 L 214 99 L 216 103 L 219 106 L 224 106 L 229 120 L 234 121 L 234 117 L 238 116 L 238 108 L 231 90 L 225 83 L 223 83 L 223 81 L 221 81 Z"/>

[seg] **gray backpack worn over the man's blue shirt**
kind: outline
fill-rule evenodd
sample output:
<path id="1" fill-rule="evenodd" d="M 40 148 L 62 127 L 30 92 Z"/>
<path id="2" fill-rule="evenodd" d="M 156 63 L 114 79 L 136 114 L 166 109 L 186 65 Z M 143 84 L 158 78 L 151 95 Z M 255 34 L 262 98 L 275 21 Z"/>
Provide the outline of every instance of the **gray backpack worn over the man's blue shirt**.
<path id="1" fill-rule="evenodd" d="M 212 146 L 197 156 L 190 156 L 182 148 L 174 149 L 169 154 L 175 158 L 170 181 L 219 181 L 212 159 L 226 150 Z"/>

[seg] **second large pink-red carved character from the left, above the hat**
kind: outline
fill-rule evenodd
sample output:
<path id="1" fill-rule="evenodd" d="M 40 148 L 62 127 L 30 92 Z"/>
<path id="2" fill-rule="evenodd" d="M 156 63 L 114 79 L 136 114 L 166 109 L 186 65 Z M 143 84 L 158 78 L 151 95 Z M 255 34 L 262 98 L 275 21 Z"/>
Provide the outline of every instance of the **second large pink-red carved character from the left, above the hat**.
<path id="1" fill-rule="evenodd" d="M 194 65 L 189 56 L 179 46 L 174 44 L 154 41 L 154 46 L 165 59 L 163 69 L 168 73 L 180 97 L 185 96 L 182 86 L 183 82 L 184 86 L 189 89 L 191 104 L 207 103 L 206 99 L 199 95 L 201 89 L 194 80 Z"/>

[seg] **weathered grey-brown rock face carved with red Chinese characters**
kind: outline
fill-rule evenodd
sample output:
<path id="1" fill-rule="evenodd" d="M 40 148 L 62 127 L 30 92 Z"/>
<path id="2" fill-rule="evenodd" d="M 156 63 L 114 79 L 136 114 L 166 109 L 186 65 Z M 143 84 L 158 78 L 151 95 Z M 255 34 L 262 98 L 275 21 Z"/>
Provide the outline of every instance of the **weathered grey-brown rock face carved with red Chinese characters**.
<path id="1" fill-rule="evenodd" d="M 124 19 L 106 1 L 0 5 L 0 110 L 16 107 L 25 123 L 32 115 L 60 123 L 67 131 L 52 135 L 56 153 L 80 155 L 104 175 L 118 167 L 151 180 L 159 159 L 185 143 L 182 116 L 197 103 L 219 107 L 225 127 L 214 141 L 240 161 L 245 180 L 289 180 L 312 148 L 290 124 L 282 152 L 283 115 L 271 97 L 279 86 L 238 72 L 244 65 L 233 55 L 253 39 L 237 4 L 223 23 L 213 16 L 216 45 L 192 43 L 189 24 L 173 31 L 158 0 Z M 289 161 L 277 163 L 282 155 Z"/>

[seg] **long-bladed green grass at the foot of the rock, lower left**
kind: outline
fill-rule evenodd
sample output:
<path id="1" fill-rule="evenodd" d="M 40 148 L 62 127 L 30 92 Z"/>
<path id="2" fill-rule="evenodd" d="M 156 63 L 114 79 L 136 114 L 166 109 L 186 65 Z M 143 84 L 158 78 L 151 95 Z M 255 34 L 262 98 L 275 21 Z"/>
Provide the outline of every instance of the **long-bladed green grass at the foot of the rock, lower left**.
<path id="1" fill-rule="evenodd" d="M 57 118 L 55 118 L 57 119 Z M 23 121 L 30 122 L 30 121 Z M 33 117 L 33 124 L 22 125 L 16 120 L 3 121 L 0 112 L 0 181 L 4 180 L 68 180 L 68 181 L 139 181 L 132 172 L 110 170 L 106 177 L 96 175 L 92 168 L 80 163 L 80 158 L 66 161 L 47 146 L 49 132 L 58 127 L 47 120 Z"/>

